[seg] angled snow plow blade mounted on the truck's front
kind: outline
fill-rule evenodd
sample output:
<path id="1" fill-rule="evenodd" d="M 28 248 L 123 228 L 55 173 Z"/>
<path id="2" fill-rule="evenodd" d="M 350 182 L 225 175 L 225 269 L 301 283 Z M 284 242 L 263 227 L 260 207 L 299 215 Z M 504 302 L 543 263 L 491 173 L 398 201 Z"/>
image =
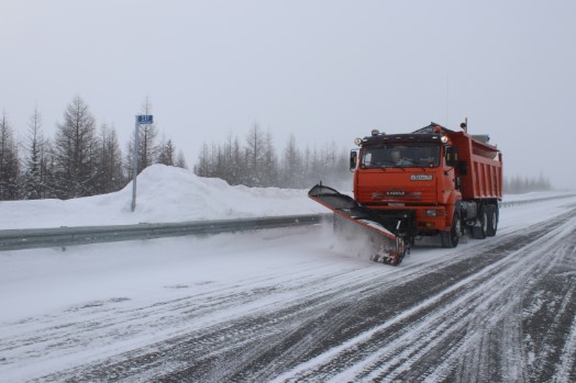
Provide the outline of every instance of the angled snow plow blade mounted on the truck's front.
<path id="1" fill-rule="evenodd" d="M 322 184 L 310 189 L 308 196 L 334 212 L 334 229 L 339 236 L 366 239 L 374 248 L 370 250 L 370 260 L 400 264 L 408 250 L 405 240 L 380 225 L 373 211 L 362 206 L 350 195 Z"/>

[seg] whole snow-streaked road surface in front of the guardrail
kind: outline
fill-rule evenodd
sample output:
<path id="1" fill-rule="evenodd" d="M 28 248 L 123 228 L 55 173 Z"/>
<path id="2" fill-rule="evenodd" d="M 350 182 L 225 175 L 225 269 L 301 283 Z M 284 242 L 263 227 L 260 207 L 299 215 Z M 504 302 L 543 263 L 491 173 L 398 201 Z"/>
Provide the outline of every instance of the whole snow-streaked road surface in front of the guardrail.
<path id="1" fill-rule="evenodd" d="M 324 226 L 0 257 L 10 382 L 576 381 L 574 198 L 399 268 Z"/>

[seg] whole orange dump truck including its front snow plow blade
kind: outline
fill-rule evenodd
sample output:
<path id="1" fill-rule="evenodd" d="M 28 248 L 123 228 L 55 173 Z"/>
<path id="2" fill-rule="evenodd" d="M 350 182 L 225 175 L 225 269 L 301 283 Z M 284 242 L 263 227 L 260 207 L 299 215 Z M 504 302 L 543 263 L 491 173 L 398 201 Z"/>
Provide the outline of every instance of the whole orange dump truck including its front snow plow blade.
<path id="1" fill-rule="evenodd" d="M 356 138 L 354 199 L 321 183 L 309 196 L 376 245 L 373 260 L 399 264 L 423 236 L 456 247 L 462 235 L 494 236 L 502 196 L 502 156 L 486 135 L 431 123 L 410 134 Z"/>

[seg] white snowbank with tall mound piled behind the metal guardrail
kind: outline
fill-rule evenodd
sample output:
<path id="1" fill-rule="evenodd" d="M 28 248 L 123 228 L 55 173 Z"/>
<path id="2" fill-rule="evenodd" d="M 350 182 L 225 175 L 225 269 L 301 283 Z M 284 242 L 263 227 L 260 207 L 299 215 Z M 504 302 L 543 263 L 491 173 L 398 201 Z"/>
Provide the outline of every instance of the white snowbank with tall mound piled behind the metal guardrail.
<path id="1" fill-rule="evenodd" d="M 131 211 L 132 182 L 115 193 L 89 198 L 0 202 L 0 229 L 128 225 L 137 223 L 230 219 L 326 213 L 308 190 L 231 187 L 164 165 L 137 178 L 136 210 Z"/>

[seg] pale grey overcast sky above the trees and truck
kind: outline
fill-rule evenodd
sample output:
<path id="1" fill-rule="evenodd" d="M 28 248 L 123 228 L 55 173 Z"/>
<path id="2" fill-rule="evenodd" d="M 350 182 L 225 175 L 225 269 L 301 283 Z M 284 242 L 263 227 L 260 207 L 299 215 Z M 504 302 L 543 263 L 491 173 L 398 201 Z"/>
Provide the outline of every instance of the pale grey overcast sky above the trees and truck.
<path id="1" fill-rule="evenodd" d="M 2 0 L 0 108 L 23 140 L 75 95 L 125 150 L 146 97 L 191 167 L 258 123 L 284 148 L 431 121 L 488 134 L 505 173 L 576 189 L 576 1 Z"/>

